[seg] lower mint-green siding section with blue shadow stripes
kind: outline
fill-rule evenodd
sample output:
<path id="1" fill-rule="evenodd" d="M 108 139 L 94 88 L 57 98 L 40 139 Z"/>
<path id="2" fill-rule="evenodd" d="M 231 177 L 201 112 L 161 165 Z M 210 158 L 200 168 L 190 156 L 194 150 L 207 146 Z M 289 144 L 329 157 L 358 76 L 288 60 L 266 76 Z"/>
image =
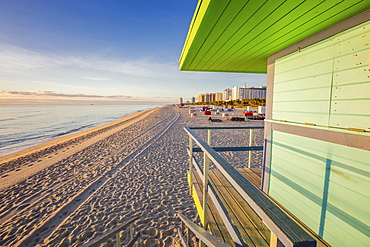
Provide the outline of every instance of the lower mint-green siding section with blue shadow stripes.
<path id="1" fill-rule="evenodd" d="M 272 132 L 269 194 L 333 246 L 370 241 L 370 152 Z"/>

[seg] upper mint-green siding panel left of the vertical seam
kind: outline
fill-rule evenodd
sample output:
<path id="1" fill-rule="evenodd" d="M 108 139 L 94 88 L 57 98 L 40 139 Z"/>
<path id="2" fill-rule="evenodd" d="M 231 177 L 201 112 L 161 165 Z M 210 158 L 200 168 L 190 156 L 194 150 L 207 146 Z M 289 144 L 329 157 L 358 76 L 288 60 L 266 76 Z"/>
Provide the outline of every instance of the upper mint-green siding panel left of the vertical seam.
<path id="1" fill-rule="evenodd" d="M 272 118 L 328 125 L 333 67 L 331 42 L 278 59 Z"/>

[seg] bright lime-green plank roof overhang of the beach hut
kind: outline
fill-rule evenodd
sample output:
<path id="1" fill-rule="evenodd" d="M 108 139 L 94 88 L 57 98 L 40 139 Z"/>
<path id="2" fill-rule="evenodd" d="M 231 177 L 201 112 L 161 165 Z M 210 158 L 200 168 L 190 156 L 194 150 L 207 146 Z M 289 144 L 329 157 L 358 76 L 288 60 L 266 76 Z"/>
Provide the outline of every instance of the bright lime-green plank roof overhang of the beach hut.
<path id="1" fill-rule="evenodd" d="M 269 56 L 369 8 L 369 0 L 199 0 L 180 70 L 266 73 Z"/>

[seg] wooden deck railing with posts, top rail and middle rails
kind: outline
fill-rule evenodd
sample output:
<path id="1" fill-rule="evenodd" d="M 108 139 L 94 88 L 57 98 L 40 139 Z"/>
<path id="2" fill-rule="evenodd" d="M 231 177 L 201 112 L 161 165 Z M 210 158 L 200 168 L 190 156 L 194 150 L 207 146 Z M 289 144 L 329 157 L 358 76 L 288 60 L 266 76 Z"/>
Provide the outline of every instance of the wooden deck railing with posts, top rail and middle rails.
<path id="1" fill-rule="evenodd" d="M 255 213 L 263 220 L 272 232 L 272 238 L 270 246 L 277 246 L 280 241 L 284 246 L 298 247 L 316 246 L 316 240 L 309 235 L 306 230 L 296 221 L 294 221 L 287 212 L 280 208 L 274 201 L 272 201 L 267 195 L 264 194 L 260 189 L 256 188 L 251 182 L 243 177 L 235 168 L 233 168 L 226 160 L 224 160 L 216 151 L 254 151 L 262 150 L 262 147 L 251 146 L 250 141 L 249 147 L 218 147 L 212 148 L 211 143 L 211 129 L 262 129 L 263 127 L 185 127 L 185 131 L 189 135 L 189 181 L 192 184 L 193 169 L 197 170 L 198 174 L 203 180 L 203 228 L 207 230 L 208 218 L 207 218 L 207 200 L 211 198 L 215 204 L 218 213 L 220 214 L 226 228 L 228 229 L 230 236 L 236 245 L 244 245 L 243 240 L 240 237 L 240 233 L 237 228 L 233 226 L 227 215 L 226 210 L 222 205 L 222 202 L 217 199 L 212 185 L 208 182 L 208 170 L 210 161 L 217 167 L 217 169 L 225 176 L 228 182 L 238 191 L 243 199 L 249 204 L 249 206 L 255 211 Z M 207 143 L 203 141 L 197 134 L 193 132 L 194 129 L 208 129 Z M 252 132 L 251 132 L 252 133 Z M 252 136 L 252 134 L 250 135 Z M 195 148 L 196 144 L 199 148 Z M 202 169 L 197 165 L 193 152 L 203 152 L 203 172 Z M 251 155 L 250 155 L 251 157 Z M 251 164 L 249 163 L 249 166 Z M 191 187 L 191 186 L 190 186 Z M 191 190 L 191 188 L 190 188 Z M 279 240 L 279 241 L 278 241 Z"/>

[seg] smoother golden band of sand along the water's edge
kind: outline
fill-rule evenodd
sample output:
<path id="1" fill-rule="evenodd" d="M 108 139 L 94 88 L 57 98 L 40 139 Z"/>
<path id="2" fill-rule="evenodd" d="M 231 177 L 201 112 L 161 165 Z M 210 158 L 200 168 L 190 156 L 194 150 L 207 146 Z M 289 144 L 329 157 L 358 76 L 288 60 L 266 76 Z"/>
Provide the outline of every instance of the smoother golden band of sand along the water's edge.
<path id="1" fill-rule="evenodd" d="M 72 155 L 73 153 L 79 152 L 82 149 L 96 143 L 99 140 L 112 135 L 122 128 L 131 124 L 132 121 L 140 121 L 145 116 L 155 111 L 158 108 L 153 108 L 145 111 L 135 112 L 129 114 L 121 119 L 115 120 L 110 123 L 103 124 L 101 126 L 93 127 L 90 129 L 82 130 L 76 133 L 71 133 L 65 136 L 57 137 L 53 140 L 23 149 L 21 151 L 8 154 L 0 157 L 0 190 L 16 184 L 29 176 L 36 174 L 42 169 L 55 164 L 56 162 Z M 137 118 L 137 119 L 135 119 Z M 103 132 L 103 133 L 99 133 Z M 75 144 L 78 143 L 78 144 Z M 54 157 L 51 157 L 52 153 L 60 152 Z M 34 160 L 35 158 L 40 159 L 48 156 L 46 160 L 39 161 L 37 166 L 23 166 L 18 165 L 17 167 L 6 167 L 9 163 L 25 163 L 28 160 Z M 4 172 L 5 170 L 5 172 Z"/>

